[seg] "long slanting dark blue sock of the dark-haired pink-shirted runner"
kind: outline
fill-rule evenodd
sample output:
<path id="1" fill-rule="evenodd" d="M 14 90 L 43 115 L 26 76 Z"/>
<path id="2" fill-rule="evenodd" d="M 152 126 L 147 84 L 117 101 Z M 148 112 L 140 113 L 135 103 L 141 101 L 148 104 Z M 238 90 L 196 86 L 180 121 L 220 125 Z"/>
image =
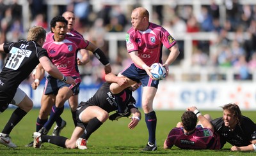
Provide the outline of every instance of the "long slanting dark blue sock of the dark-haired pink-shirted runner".
<path id="1" fill-rule="evenodd" d="M 60 117 L 61 113 L 64 110 L 64 106 L 61 108 L 57 108 L 55 105 L 52 106 L 52 111 L 49 120 L 44 124 L 44 127 L 47 131 L 49 131 L 56 121 L 56 118 Z"/>

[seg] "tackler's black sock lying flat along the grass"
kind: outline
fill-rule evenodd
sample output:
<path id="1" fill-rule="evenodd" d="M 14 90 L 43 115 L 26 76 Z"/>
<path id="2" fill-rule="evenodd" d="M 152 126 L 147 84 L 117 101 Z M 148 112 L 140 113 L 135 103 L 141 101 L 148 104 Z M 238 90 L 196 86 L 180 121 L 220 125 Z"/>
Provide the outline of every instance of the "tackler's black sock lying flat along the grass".
<path id="1" fill-rule="evenodd" d="M 41 136 L 42 143 L 51 143 L 57 146 L 61 146 L 63 148 L 67 148 L 66 147 L 67 139 L 68 138 L 64 136 L 45 136 L 45 135 Z"/>

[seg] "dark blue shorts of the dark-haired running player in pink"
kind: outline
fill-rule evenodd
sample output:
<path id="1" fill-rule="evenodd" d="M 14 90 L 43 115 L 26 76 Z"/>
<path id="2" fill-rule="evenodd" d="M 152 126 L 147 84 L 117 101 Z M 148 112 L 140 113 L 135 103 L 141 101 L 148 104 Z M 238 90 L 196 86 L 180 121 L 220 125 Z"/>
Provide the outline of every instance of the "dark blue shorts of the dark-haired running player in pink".
<path id="1" fill-rule="evenodd" d="M 73 91 L 73 95 L 79 94 L 79 85 L 81 83 L 81 78 L 77 76 L 72 76 L 76 80 L 76 86 L 67 84 L 65 82 L 62 82 L 61 80 L 58 80 L 51 75 L 48 75 L 46 77 L 46 82 L 45 82 L 45 87 L 44 87 L 44 94 L 49 95 L 49 94 L 54 94 L 57 95 L 59 89 L 62 87 L 69 87 Z"/>

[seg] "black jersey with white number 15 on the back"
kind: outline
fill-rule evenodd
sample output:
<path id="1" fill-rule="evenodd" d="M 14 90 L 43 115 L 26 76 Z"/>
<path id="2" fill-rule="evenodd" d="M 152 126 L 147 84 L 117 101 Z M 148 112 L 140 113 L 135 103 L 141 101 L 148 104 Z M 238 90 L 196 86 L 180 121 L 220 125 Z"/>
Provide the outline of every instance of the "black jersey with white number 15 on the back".
<path id="1" fill-rule="evenodd" d="M 8 56 L 0 73 L 0 90 L 13 97 L 20 83 L 38 65 L 40 57 L 48 57 L 48 54 L 35 41 L 26 40 L 4 43 L 4 52 Z"/>

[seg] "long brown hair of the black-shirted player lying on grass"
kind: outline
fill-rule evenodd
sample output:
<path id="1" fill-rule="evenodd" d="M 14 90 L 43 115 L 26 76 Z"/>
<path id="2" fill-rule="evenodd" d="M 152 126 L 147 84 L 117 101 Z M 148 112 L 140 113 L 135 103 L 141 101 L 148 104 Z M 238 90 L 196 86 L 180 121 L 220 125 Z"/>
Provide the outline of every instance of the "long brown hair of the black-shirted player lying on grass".
<path id="1" fill-rule="evenodd" d="M 225 104 L 221 108 L 223 110 L 229 111 L 233 115 L 233 117 L 236 118 L 238 124 L 241 123 L 242 113 L 241 113 L 241 110 L 240 110 L 240 108 L 237 104 L 229 103 L 229 104 Z"/>

